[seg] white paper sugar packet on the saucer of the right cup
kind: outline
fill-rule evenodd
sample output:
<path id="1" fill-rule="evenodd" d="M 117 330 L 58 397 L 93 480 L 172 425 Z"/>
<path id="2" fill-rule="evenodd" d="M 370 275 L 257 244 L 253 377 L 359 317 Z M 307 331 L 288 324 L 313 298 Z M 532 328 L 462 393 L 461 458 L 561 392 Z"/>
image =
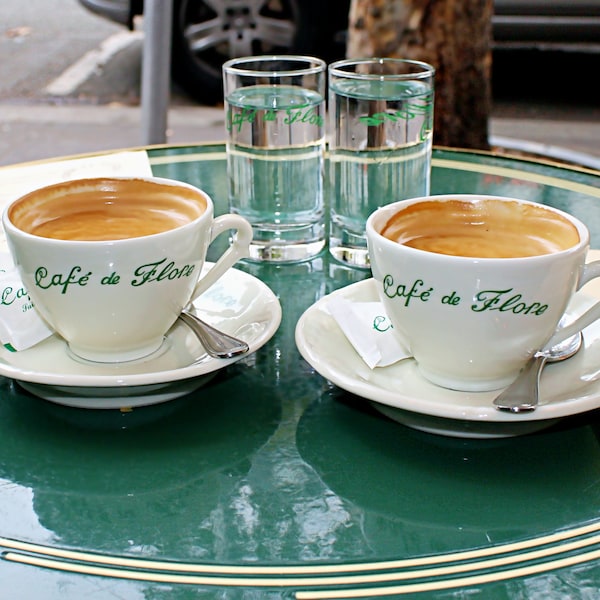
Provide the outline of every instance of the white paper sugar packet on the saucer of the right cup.
<path id="1" fill-rule="evenodd" d="M 327 309 L 369 368 L 387 367 L 411 357 L 380 302 L 350 302 L 333 296 Z"/>

